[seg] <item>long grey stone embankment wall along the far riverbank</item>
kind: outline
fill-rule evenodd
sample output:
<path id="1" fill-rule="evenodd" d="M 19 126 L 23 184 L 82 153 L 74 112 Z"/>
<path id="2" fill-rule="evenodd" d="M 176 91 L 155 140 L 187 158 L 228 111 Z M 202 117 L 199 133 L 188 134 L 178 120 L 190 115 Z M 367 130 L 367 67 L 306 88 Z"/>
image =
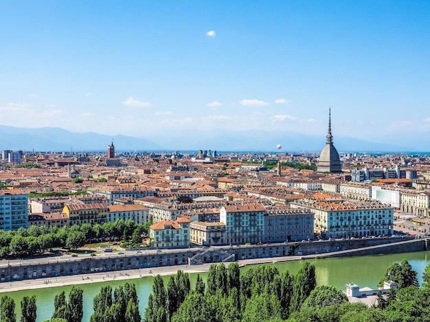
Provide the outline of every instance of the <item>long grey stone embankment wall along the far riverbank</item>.
<path id="1" fill-rule="evenodd" d="M 408 242 L 409 243 L 405 243 Z M 384 247 L 382 247 L 384 245 Z M 130 269 L 152 269 L 173 265 L 194 265 L 258 258 L 288 256 L 359 256 L 375 253 L 399 253 L 426 249 L 425 240 L 413 238 L 370 238 L 357 240 L 324 240 L 302 243 L 282 243 L 264 245 L 241 245 L 210 248 L 166 249 L 143 253 L 104 253 L 85 258 L 38 258 L 21 260 L 19 264 L 0 264 L 0 280 L 13 282 L 37 278 L 67 275 L 91 274 L 100 272 L 125 271 Z M 354 251 L 352 251 L 354 250 Z M 344 253 L 344 254 L 343 254 Z M 348 254 L 349 253 L 349 254 Z M 323 255 L 324 254 L 324 255 Z"/>

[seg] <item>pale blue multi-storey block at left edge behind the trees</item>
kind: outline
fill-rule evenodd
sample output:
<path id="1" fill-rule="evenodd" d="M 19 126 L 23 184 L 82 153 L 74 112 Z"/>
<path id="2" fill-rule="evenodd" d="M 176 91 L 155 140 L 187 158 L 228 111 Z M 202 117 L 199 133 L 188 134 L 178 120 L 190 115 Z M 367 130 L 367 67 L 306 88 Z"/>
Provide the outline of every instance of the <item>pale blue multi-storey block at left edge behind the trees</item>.
<path id="1" fill-rule="evenodd" d="M 0 230 L 27 228 L 28 195 L 21 190 L 0 190 Z"/>

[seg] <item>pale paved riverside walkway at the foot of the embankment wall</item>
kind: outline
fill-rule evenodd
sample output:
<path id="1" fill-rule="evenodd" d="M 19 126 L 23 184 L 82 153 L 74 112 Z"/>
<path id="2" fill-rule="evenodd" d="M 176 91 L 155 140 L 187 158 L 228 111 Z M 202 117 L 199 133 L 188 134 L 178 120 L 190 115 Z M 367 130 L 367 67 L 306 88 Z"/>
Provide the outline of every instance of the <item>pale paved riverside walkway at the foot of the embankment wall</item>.
<path id="1" fill-rule="evenodd" d="M 425 239 L 414 239 L 414 240 L 403 240 L 396 243 L 375 245 L 370 247 L 362 247 L 359 249 L 348 249 L 341 251 L 331 251 L 328 253 L 311 254 L 306 256 L 281 256 L 273 258 L 252 258 L 245 260 L 238 260 L 240 267 L 254 264 L 269 264 L 275 262 L 287 262 L 293 260 L 315 260 L 319 258 L 330 258 L 330 257 L 347 257 L 347 256 L 364 256 L 378 253 L 400 253 L 402 251 L 393 251 L 396 247 L 398 250 L 405 249 L 405 251 L 410 251 L 410 249 L 416 248 L 420 249 L 421 245 L 429 243 L 430 240 Z M 418 246 L 418 247 L 417 247 Z M 57 286 L 67 286 L 67 285 L 79 285 L 79 284 L 89 284 L 89 283 L 100 283 L 109 281 L 119 281 L 119 280 L 133 280 L 145 277 L 154 277 L 155 275 L 173 275 L 177 273 L 178 270 L 187 273 L 202 273 L 209 271 L 211 264 L 219 263 L 204 263 L 199 265 L 172 265 L 172 266 L 161 266 L 152 267 L 151 269 L 128 269 L 122 271 L 109 271 L 109 273 L 89 273 L 80 275 L 67 275 L 58 277 L 47 277 L 39 279 L 29 279 L 20 280 L 15 282 L 1 282 L 0 283 L 0 293 L 14 292 L 17 290 L 34 290 L 38 288 L 49 288 Z M 228 266 L 229 262 L 224 263 Z"/>

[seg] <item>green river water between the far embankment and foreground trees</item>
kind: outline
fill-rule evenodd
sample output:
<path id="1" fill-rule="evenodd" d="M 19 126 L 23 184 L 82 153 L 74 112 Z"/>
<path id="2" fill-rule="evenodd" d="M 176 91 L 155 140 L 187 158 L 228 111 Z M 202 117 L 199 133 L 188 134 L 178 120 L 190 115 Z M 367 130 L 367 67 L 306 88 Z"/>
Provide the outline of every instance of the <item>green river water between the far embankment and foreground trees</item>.
<path id="1" fill-rule="evenodd" d="M 345 289 L 345 284 L 354 282 L 360 287 L 369 286 L 376 288 L 379 279 L 385 273 L 385 269 L 394 262 L 400 262 L 406 258 L 412 265 L 413 269 L 418 272 L 418 280 L 422 282 L 422 273 L 425 270 L 430 260 L 430 251 L 418 251 L 414 253 L 396 253 L 392 255 L 381 256 L 359 256 L 350 258 L 326 258 L 312 260 L 315 264 L 317 274 L 317 284 L 332 285 Z M 427 259 L 428 258 L 428 259 Z M 291 273 L 295 274 L 302 266 L 302 261 L 295 262 L 278 262 L 271 264 L 277 267 L 280 271 L 288 269 Z M 250 269 L 251 266 L 242 267 L 241 270 Z M 154 273 L 156 273 L 154 271 Z M 201 273 L 205 280 L 207 273 Z M 192 287 L 196 280 L 196 274 L 190 275 Z M 167 284 L 168 277 L 164 277 L 165 285 Z M 126 281 L 111 281 L 109 284 L 112 288 L 124 284 Z M 144 277 L 142 279 L 130 280 L 136 284 L 137 295 L 139 296 L 139 310 L 144 316 L 144 310 L 148 304 L 148 296 L 152 287 L 152 277 Z M 89 317 L 93 314 L 93 297 L 97 295 L 100 288 L 105 283 L 94 284 L 81 284 L 80 287 L 84 290 L 84 317 L 83 322 L 89 321 Z M 21 299 L 25 295 L 36 295 L 37 304 L 37 321 L 45 321 L 50 319 L 52 312 L 54 312 L 54 297 L 65 290 L 68 295 L 72 286 L 41 288 L 38 290 L 20 290 L 10 293 L 2 293 L 0 296 L 9 295 L 15 301 L 16 317 L 19 321 L 19 311 L 21 310 Z"/>

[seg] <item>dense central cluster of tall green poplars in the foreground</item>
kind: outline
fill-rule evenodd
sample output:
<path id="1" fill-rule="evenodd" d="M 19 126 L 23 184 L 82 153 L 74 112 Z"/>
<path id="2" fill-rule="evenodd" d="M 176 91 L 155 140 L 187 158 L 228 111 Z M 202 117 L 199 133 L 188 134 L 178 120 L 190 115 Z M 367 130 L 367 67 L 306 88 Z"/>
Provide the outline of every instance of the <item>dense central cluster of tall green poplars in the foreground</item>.
<path id="1" fill-rule="evenodd" d="M 212 264 L 207 284 L 197 275 L 194 289 L 182 271 L 170 277 L 167 290 L 157 275 L 144 321 L 282 321 L 300 310 L 315 286 L 315 266 L 309 262 L 295 276 L 269 265 L 241 274 L 237 263 Z"/>

